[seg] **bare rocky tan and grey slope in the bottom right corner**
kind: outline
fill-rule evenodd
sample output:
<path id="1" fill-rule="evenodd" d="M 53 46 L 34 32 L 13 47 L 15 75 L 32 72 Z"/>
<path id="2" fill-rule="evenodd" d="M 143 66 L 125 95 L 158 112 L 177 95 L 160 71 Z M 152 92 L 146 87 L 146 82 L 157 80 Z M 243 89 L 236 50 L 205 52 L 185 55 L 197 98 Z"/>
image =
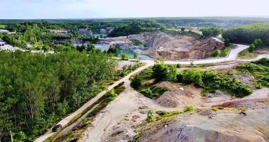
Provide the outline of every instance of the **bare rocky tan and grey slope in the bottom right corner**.
<path id="1" fill-rule="evenodd" d="M 216 114 L 213 119 L 194 114 L 162 121 L 143 132 L 141 141 L 269 141 L 269 109 Z"/>

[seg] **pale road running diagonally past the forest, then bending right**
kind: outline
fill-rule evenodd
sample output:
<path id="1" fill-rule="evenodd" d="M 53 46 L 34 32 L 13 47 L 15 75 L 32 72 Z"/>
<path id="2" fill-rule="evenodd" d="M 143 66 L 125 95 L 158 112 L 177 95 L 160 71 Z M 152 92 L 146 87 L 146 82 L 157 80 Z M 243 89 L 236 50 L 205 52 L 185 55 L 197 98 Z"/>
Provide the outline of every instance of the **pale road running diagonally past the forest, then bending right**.
<path id="1" fill-rule="evenodd" d="M 242 50 L 245 50 L 246 48 L 248 48 L 248 45 L 237 45 L 237 48 L 232 49 L 231 52 L 229 53 L 229 56 L 226 58 L 208 58 L 208 59 L 203 59 L 203 60 L 165 61 L 165 64 L 168 64 L 168 65 L 175 65 L 175 64 L 190 65 L 191 63 L 193 63 L 194 65 L 197 65 L 197 64 L 234 61 L 234 60 L 236 60 L 238 53 L 240 53 Z M 259 60 L 260 58 L 269 58 L 269 55 L 268 54 L 267 55 L 259 55 L 257 58 L 254 58 L 251 60 L 238 60 L 238 61 L 249 62 L 249 61 L 253 61 L 253 60 Z M 96 102 L 99 98 L 101 98 L 104 94 L 106 94 L 106 92 L 109 92 L 111 89 L 116 87 L 116 85 L 120 84 L 121 82 L 128 81 L 129 77 L 131 77 L 132 75 L 136 75 L 138 72 L 141 72 L 141 71 L 145 70 L 147 67 L 150 67 L 150 66 L 155 64 L 155 62 L 153 60 L 141 60 L 141 62 L 146 63 L 146 65 L 143 67 L 139 67 L 137 70 L 131 72 L 126 77 L 123 77 L 121 80 L 114 82 L 114 84 L 110 85 L 106 91 L 103 91 L 103 92 L 97 94 L 96 97 L 89 100 L 89 102 L 85 103 L 82 107 L 77 109 L 77 111 L 75 111 L 72 114 L 70 114 L 69 116 L 65 117 L 65 119 L 62 119 L 57 124 L 61 124 L 62 126 L 67 125 L 77 114 L 81 113 L 82 111 L 84 111 L 84 109 L 87 109 L 87 107 L 94 104 L 94 102 Z M 49 129 L 44 135 L 40 136 L 39 138 L 36 138 L 35 142 L 45 141 L 47 138 L 49 138 L 52 135 L 53 135 L 53 132 L 51 131 L 51 129 Z"/>

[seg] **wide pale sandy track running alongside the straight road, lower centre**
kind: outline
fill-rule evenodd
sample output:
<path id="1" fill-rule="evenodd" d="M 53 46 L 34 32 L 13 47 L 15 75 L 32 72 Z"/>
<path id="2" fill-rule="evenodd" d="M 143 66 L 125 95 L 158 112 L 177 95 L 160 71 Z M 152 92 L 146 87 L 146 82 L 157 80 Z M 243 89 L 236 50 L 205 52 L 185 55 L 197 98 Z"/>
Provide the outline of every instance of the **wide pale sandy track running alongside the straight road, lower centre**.
<path id="1" fill-rule="evenodd" d="M 102 141 L 108 130 L 123 121 L 129 112 L 137 111 L 137 92 L 130 87 L 129 81 L 125 82 L 125 87 L 126 89 L 119 94 L 119 97 L 94 118 L 92 126 L 85 131 L 84 138 L 79 141 Z"/>

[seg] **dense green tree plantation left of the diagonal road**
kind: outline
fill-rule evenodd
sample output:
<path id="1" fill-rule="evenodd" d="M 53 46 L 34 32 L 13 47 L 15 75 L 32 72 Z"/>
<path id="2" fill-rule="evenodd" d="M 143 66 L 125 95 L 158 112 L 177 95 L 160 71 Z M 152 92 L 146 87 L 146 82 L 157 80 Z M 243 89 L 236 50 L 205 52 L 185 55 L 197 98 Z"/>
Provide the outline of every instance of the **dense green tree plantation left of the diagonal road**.
<path id="1" fill-rule="evenodd" d="M 53 55 L 0 52 L 1 141 L 33 141 L 113 80 L 116 60 L 98 50 Z M 11 133 L 10 133 L 11 132 Z"/>

